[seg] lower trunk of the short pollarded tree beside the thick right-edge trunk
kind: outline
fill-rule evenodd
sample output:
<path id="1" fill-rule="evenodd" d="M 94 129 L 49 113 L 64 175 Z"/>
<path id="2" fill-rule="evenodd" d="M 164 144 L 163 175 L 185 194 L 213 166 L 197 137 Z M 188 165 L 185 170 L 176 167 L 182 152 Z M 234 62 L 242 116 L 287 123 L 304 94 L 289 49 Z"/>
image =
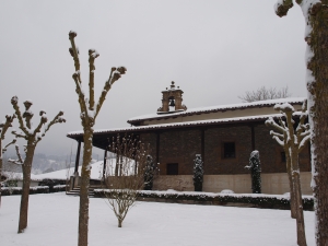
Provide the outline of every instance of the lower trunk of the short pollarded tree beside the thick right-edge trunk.
<path id="1" fill-rule="evenodd" d="M 294 192 L 295 192 L 297 245 L 306 246 L 303 201 L 302 201 L 300 168 L 298 168 L 298 152 L 297 149 L 294 149 L 292 152 L 293 155 L 292 155 L 291 164 L 292 164 L 292 176 L 293 176 Z"/>

